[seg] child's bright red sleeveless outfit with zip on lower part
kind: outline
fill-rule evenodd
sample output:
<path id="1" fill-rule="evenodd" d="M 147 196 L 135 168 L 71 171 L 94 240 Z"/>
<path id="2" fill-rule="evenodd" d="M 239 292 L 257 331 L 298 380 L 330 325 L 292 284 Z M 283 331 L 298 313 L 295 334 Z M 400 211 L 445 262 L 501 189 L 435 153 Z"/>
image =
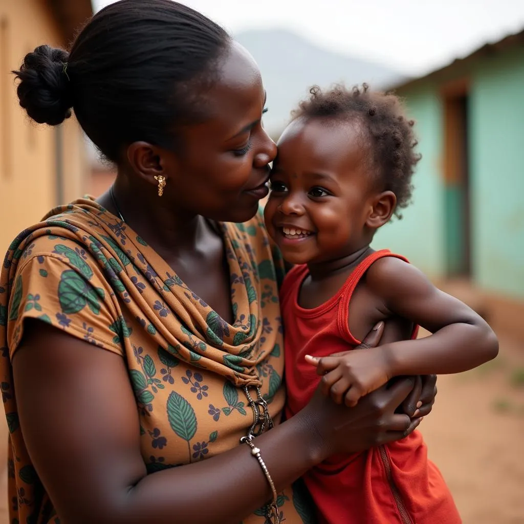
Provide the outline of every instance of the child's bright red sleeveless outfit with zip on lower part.
<path id="1" fill-rule="evenodd" d="M 347 351 L 358 344 L 351 334 L 348 311 L 352 294 L 369 267 L 389 250 L 365 258 L 342 288 L 313 309 L 298 303 L 307 266 L 296 266 L 280 291 L 285 336 L 286 416 L 300 411 L 312 397 L 320 377 L 305 355 L 316 357 Z M 413 338 L 417 329 L 413 331 Z M 306 475 L 320 521 L 328 524 L 459 524 L 460 516 L 438 469 L 428 461 L 418 431 L 406 439 L 364 453 L 334 456 Z"/>

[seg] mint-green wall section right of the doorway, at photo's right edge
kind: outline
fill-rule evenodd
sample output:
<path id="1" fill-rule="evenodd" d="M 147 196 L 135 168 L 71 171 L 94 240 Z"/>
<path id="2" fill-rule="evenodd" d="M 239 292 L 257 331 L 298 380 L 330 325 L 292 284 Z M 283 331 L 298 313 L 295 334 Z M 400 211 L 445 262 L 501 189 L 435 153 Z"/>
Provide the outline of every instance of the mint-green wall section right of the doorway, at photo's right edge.
<path id="1" fill-rule="evenodd" d="M 524 48 L 479 63 L 472 80 L 475 280 L 524 297 Z"/>

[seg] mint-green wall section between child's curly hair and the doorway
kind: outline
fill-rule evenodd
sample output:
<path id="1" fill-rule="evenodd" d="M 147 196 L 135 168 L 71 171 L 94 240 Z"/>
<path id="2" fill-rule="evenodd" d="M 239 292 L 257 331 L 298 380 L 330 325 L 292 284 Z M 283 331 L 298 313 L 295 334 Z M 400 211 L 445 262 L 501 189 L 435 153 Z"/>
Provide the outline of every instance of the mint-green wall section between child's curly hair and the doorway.
<path id="1" fill-rule="evenodd" d="M 444 266 L 444 209 L 440 178 L 442 110 L 436 89 L 428 84 L 417 91 L 399 92 L 406 97 L 409 116 L 422 154 L 413 175 L 413 202 L 402 211 L 402 220 L 393 219 L 375 235 L 375 249 L 388 248 L 409 258 L 429 276 L 438 277 Z"/>

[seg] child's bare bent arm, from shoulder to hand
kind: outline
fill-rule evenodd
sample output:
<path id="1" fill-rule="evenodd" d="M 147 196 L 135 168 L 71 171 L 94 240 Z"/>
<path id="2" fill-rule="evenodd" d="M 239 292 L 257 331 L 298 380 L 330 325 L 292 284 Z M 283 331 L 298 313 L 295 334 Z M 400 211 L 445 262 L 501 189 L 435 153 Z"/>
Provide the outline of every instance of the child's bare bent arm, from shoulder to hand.
<path id="1" fill-rule="evenodd" d="M 353 406 L 394 376 L 460 373 L 497 356 L 497 337 L 481 316 L 402 260 L 377 260 L 366 274 L 366 287 L 392 315 L 433 334 L 340 357 L 308 358 L 324 375 L 324 391 L 335 401 Z"/>

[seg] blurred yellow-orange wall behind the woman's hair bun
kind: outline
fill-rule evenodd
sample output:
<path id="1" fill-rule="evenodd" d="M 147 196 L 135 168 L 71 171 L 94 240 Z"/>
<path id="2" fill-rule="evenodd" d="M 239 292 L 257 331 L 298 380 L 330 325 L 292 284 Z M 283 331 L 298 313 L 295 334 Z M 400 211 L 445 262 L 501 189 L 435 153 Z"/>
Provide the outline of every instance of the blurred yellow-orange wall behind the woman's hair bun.
<path id="1" fill-rule="evenodd" d="M 10 70 L 49 43 L 64 46 L 45 0 L 0 0 L 0 253 L 16 234 L 57 205 L 57 129 L 31 124 L 19 107 Z M 88 170 L 74 117 L 62 128 L 63 201 L 80 196 Z M 3 255 L 0 255 L 2 257 Z"/>

